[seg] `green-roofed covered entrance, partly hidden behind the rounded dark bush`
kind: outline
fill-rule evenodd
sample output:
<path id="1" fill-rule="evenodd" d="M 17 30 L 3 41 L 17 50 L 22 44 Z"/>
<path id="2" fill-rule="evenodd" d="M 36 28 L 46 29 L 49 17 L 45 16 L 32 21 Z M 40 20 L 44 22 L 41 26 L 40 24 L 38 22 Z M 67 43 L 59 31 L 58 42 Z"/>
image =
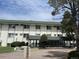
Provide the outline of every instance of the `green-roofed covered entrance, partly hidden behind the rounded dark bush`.
<path id="1" fill-rule="evenodd" d="M 30 36 L 30 47 L 39 47 L 40 36 Z M 63 41 L 59 37 L 48 37 L 47 47 L 62 47 Z"/>

